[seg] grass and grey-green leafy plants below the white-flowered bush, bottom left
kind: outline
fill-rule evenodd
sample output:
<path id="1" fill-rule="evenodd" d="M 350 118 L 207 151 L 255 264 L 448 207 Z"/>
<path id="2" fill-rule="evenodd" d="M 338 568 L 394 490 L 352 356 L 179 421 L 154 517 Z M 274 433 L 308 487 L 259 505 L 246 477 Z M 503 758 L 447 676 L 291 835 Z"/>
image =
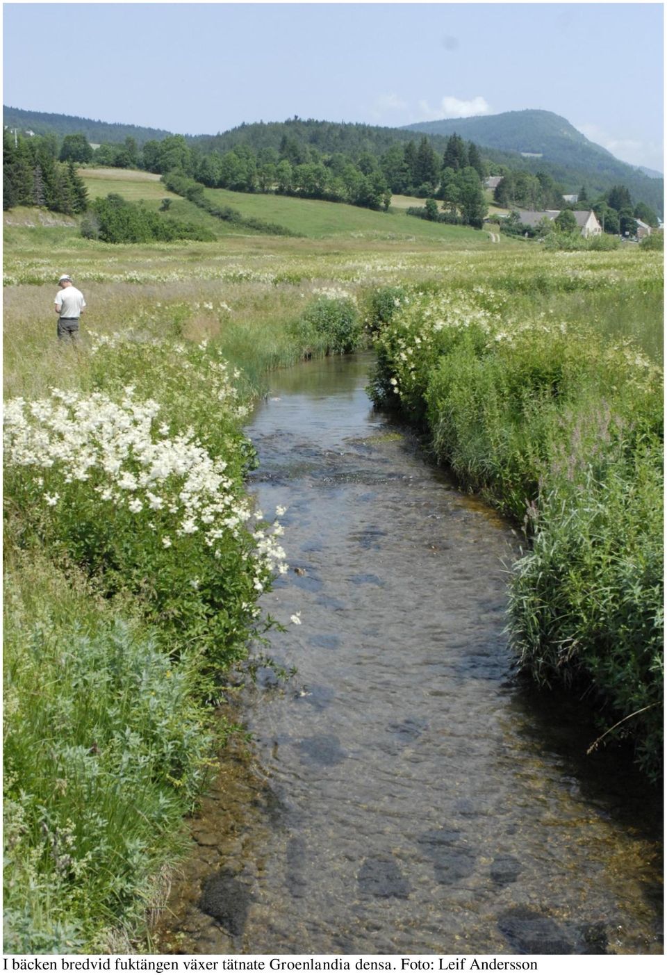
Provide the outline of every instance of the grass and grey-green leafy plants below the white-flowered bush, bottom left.
<path id="1" fill-rule="evenodd" d="M 71 566 L 5 571 L 4 948 L 125 951 L 207 774 L 196 667 Z"/>

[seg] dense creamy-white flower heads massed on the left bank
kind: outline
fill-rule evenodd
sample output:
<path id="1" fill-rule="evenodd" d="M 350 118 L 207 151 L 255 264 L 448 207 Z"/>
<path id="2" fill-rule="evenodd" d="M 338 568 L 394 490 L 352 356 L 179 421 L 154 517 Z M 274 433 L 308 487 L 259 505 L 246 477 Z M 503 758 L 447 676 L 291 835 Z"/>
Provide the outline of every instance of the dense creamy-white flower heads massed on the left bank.
<path id="1" fill-rule="evenodd" d="M 226 369 L 219 361 L 213 365 L 218 375 Z M 203 551 L 215 549 L 212 555 L 220 558 L 220 541 L 231 538 L 236 544 L 241 532 L 249 531 L 254 550 L 248 558 L 255 560 L 254 577 L 263 590 L 268 574 L 285 564 L 277 541 L 283 527 L 259 524 L 262 513 L 253 513 L 243 488 L 227 476 L 227 461 L 212 456 L 191 429 L 168 436 L 169 427 L 157 419 L 159 405 L 134 394 L 134 387 L 126 386 L 118 403 L 102 393 L 55 389 L 34 403 L 9 401 L 4 416 L 8 471 L 22 469 L 21 480 L 32 478 L 49 507 L 55 507 L 64 487 L 92 492 L 100 503 L 132 515 L 147 508 L 159 515 L 159 524 L 152 524 L 165 549 L 175 536 L 199 534 Z"/>

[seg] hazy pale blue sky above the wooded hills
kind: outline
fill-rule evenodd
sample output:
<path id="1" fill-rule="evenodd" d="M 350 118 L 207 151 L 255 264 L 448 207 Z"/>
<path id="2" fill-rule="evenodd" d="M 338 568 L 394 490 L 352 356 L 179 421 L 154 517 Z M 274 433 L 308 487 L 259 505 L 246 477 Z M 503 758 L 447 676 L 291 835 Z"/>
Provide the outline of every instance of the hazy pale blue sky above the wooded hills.
<path id="1" fill-rule="evenodd" d="M 662 170 L 662 3 L 5 3 L 5 104 L 215 134 L 545 108 Z M 74 54 L 76 52 L 76 54 Z"/>

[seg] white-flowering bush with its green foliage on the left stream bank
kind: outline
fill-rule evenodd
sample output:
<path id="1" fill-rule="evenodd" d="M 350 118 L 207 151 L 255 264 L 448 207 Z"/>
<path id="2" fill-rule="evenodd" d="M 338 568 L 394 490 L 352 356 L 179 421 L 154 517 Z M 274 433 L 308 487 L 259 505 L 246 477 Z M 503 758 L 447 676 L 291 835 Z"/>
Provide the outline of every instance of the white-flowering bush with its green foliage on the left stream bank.
<path id="1" fill-rule="evenodd" d="M 244 655 L 255 600 L 286 571 L 282 527 L 257 521 L 228 462 L 191 429 L 173 433 L 132 386 L 54 389 L 5 409 L 6 492 L 26 534 L 140 597 L 175 647 L 200 643 L 219 664 Z"/>

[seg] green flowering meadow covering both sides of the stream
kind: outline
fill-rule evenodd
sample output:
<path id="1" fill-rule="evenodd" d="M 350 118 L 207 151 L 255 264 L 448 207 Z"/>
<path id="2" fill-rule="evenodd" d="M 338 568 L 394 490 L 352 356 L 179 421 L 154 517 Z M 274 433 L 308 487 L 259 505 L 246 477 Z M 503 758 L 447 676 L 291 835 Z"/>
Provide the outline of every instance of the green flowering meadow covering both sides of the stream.
<path id="1" fill-rule="evenodd" d="M 92 195 L 169 195 L 82 172 Z M 655 769 L 661 254 L 546 254 L 210 192 L 304 237 L 214 221 L 212 243 L 107 245 L 5 217 L 10 953 L 148 944 L 230 731 L 212 705 L 251 643 L 295 625 L 256 609 L 290 546 L 281 512 L 246 494 L 243 423 L 266 373 L 310 356 L 373 340 L 377 402 L 430 429 L 461 484 L 533 539 L 512 582 L 522 666 L 586 686 L 605 726 L 647 709 L 623 728 Z M 77 346 L 56 339 L 62 272 L 88 302 Z"/>

